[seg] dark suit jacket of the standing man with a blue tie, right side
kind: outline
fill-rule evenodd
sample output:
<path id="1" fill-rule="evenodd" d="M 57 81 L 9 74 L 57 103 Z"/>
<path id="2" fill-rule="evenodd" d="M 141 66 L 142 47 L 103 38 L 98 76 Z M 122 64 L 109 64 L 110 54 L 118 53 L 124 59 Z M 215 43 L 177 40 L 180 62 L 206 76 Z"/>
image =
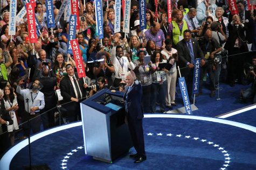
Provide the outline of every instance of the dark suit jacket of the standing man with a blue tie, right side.
<path id="1" fill-rule="evenodd" d="M 196 58 L 202 58 L 204 59 L 204 54 L 201 48 L 198 45 L 198 42 L 196 39 L 191 39 L 192 46 L 193 46 L 193 52 L 195 59 Z M 177 50 L 178 50 L 178 65 L 183 67 L 186 67 L 186 63 L 191 63 L 191 56 L 189 53 L 189 48 L 186 45 L 186 41 L 183 39 L 177 43 Z"/>

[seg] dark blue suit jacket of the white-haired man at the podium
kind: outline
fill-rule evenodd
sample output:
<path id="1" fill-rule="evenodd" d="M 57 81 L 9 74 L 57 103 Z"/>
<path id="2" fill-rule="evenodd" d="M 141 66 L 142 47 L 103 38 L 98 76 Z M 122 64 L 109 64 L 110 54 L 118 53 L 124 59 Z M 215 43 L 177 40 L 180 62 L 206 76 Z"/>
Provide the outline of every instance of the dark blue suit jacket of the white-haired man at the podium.
<path id="1" fill-rule="evenodd" d="M 125 88 L 124 102 L 126 106 L 126 114 L 132 119 L 142 119 L 143 109 L 142 109 L 142 87 L 141 84 L 136 85 L 134 82 L 132 90 L 128 92 L 128 86 Z"/>

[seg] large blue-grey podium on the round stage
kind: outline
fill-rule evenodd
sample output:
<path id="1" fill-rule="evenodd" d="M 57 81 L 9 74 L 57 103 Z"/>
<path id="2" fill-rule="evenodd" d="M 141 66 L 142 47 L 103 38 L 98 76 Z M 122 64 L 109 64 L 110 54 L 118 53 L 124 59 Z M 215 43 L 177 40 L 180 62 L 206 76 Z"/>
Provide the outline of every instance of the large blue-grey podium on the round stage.
<path id="1" fill-rule="evenodd" d="M 85 154 L 112 163 L 133 147 L 123 93 L 104 89 L 80 103 Z"/>

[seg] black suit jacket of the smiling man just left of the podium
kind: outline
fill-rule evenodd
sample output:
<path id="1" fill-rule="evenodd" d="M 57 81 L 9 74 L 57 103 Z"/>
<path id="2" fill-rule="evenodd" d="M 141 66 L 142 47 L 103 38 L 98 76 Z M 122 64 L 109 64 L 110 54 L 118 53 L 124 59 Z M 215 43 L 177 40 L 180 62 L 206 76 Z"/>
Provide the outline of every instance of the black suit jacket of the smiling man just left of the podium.
<path id="1" fill-rule="evenodd" d="M 86 96 L 86 89 L 84 88 L 84 81 L 82 78 L 78 78 L 77 72 L 74 73 L 75 77 L 78 79 L 78 85 L 80 87 L 80 90 L 82 92 L 82 97 Z M 75 91 L 72 85 L 72 82 L 68 75 L 65 75 L 63 79 L 60 80 L 60 92 L 63 97 L 63 102 L 71 101 L 70 99 L 76 98 L 75 97 Z"/>

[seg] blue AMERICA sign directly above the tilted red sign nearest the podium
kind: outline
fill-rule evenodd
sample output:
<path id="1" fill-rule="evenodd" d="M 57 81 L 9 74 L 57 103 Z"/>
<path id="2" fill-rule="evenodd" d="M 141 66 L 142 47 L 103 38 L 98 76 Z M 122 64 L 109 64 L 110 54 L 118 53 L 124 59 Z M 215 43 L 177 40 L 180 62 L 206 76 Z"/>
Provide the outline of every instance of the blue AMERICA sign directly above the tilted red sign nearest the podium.
<path id="1" fill-rule="evenodd" d="M 75 39 L 75 26 L 77 23 L 77 15 L 70 15 L 70 23 L 68 24 L 68 34 L 67 34 L 67 53 L 72 54 L 72 47 L 70 40 Z"/>

